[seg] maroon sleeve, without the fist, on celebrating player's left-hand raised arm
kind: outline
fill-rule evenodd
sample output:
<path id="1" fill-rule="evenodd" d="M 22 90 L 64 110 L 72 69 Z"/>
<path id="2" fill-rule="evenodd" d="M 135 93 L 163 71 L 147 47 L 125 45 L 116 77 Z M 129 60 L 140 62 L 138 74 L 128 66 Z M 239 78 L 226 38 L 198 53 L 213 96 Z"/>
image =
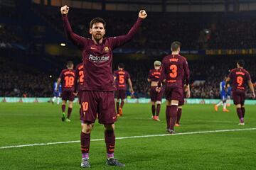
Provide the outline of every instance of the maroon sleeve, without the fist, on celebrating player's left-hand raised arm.
<path id="1" fill-rule="evenodd" d="M 67 14 L 63 15 L 63 26 L 65 30 L 65 35 L 68 37 L 68 39 L 71 40 L 73 44 L 76 45 L 80 50 L 82 50 L 82 48 L 85 47 L 87 39 L 73 32 L 70 26 L 70 22 L 68 21 Z"/>

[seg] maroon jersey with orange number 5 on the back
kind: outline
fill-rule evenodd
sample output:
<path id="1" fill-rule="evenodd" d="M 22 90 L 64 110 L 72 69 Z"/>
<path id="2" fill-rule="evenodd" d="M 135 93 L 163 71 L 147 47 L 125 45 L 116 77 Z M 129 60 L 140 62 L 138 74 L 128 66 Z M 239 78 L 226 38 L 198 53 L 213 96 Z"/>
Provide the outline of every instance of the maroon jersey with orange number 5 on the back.
<path id="1" fill-rule="evenodd" d="M 117 86 L 118 90 L 126 90 L 127 89 L 127 79 L 130 79 L 130 75 L 127 71 L 122 70 L 116 70 L 114 71 L 114 77 L 116 78 L 115 84 Z"/>

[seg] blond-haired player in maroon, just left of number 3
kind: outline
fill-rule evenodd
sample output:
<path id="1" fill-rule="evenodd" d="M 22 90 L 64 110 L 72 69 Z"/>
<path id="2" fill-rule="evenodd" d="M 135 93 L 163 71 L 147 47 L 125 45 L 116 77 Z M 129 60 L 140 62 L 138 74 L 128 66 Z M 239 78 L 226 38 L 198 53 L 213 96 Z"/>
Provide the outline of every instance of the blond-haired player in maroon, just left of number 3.
<path id="1" fill-rule="evenodd" d="M 154 69 L 149 70 L 148 81 L 151 84 L 150 90 L 150 98 L 151 98 L 151 111 L 152 111 L 152 118 L 153 120 L 160 121 L 159 113 L 161 108 L 161 98 L 163 96 L 163 91 L 156 91 L 156 87 L 160 78 L 161 74 L 161 62 L 155 61 L 154 62 Z"/>

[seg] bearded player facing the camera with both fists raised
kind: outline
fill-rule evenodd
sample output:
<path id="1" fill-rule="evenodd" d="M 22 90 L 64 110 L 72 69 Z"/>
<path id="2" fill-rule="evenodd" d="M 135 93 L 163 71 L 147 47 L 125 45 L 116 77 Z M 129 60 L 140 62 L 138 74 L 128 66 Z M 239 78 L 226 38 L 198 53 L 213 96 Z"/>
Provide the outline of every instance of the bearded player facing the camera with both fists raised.
<path id="1" fill-rule="evenodd" d="M 89 149 L 90 133 L 98 114 L 99 123 L 105 126 L 105 143 L 107 149 L 107 164 L 112 166 L 124 166 L 114 159 L 114 122 L 117 120 L 114 107 L 114 77 L 112 75 L 112 51 L 116 47 L 132 40 L 139 31 L 139 26 L 146 18 L 146 11 L 139 11 L 137 22 L 134 23 L 129 33 L 112 38 L 104 38 L 106 23 L 102 18 L 93 18 L 90 21 L 90 34 L 92 39 L 83 38 L 75 33 L 68 21 L 68 6 L 60 8 L 63 16 L 63 25 L 68 38 L 82 51 L 84 64 L 84 82 L 81 94 L 82 108 L 82 132 L 81 151 L 84 168 L 90 167 Z"/>

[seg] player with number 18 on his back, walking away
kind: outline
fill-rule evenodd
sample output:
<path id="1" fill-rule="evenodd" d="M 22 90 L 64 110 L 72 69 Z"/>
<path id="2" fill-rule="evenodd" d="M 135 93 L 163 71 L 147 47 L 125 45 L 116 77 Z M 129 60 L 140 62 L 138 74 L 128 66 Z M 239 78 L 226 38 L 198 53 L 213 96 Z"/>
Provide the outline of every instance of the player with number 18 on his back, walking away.
<path id="1" fill-rule="evenodd" d="M 72 61 L 69 61 L 67 64 L 68 69 L 63 69 L 63 71 L 60 73 L 60 76 L 57 81 L 57 88 L 62 82 L 62 91 L 63 93 L 61 94 L 62 97 L 62 111 L 63 115 L 61 120 L 66 120 L 67 122 L 70 122 L 70 115 L 72 113 L 72 108 L 73 108 L 73 101 L 75 99 L 75 95 L 73 94 L 75 91 L 75 70 L 73 69 L 74 64 Z M 58 90 L 58 89 L 57 89 Z M 68 101 L 68 116 L 67 118 L 65 117 L 65 104 Z"/>

